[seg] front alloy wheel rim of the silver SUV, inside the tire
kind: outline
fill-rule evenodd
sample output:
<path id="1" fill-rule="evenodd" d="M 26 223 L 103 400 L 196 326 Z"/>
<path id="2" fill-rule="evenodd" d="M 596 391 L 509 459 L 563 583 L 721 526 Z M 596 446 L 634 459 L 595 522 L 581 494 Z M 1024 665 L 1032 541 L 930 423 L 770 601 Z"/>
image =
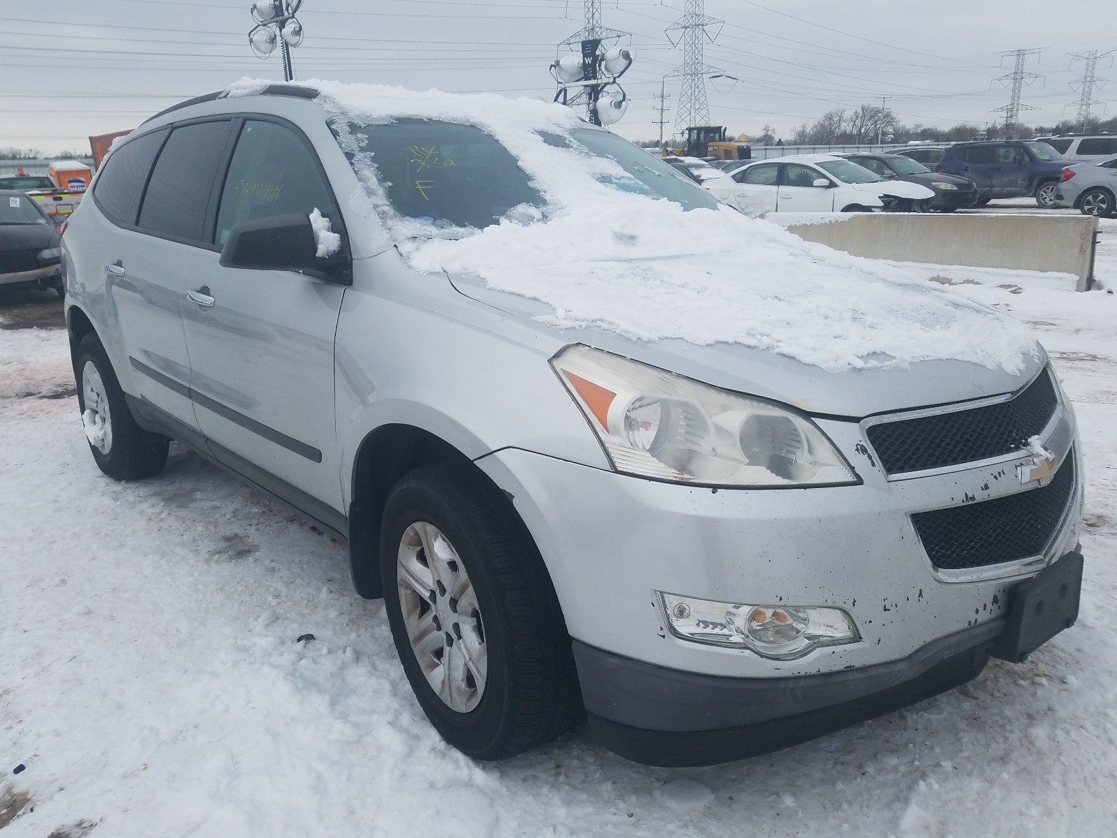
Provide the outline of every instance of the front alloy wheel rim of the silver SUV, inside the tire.
<path id="1" fill-rule="evenodd" d="M 449 539 L 417 521 L 397 553 L 400 610 L 411 651 L 450 710 L 468 713 L 485 693 L 488 650 L 477 596 Z"/>

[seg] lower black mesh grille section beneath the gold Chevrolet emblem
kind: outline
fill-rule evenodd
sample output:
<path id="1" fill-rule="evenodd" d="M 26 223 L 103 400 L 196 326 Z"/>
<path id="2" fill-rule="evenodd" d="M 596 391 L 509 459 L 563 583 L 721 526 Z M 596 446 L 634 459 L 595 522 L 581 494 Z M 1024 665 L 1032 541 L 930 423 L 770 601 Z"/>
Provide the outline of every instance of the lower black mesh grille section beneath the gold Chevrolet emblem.
<path id="1" fill-rule="evenodd" d="M 911 523 L 930 563 L 939 570 L 1015 562 L 1043 552 L 1073 492 L 1071 450 L 1054 479 L 1042 488 L 948 510 L 917 512 Z"/>

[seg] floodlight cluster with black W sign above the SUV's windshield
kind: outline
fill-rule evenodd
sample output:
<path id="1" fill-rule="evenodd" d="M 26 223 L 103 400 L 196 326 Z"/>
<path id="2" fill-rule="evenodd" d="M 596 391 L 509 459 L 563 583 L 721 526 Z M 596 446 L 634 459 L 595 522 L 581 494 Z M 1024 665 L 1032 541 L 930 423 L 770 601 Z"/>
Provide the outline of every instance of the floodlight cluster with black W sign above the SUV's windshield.
<path id="1" fill-rule="evenodd" d="M 601 0 L 585 0 L 585 26 L 558 45 L 572 51 L 551 65 L 551 75 L 558 83 L 554 101 L 564 105 L 584 104 L 586 118 L 594 125 L 610 125 L 620 120 L 628 107 L 628 97 L 617 79 L 632 66 L 632 53 L 620 47 L 602 49 L 601 42 L 624 37 L 629 32 L 601 26 Z M 607 93 L 610 86 L 615 89 Z"/>

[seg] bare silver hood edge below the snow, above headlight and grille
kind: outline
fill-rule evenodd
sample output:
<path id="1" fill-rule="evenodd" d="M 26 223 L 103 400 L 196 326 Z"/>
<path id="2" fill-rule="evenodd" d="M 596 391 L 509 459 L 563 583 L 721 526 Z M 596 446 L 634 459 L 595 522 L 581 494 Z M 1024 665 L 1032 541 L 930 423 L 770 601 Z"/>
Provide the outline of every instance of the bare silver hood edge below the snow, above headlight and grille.
<path id="1" fill-rule="evenodd" d="M 873 413 L 945 404 L 1014 392 L 1047 362 L 1046 354 L 1029 355 L 1016 373 L 956 360 L 919 361 L 895 368 L 849 369 L 828 372 L 763 349 L 735 343 L 696 346 L 680 340 L 632 341 L 593 326 L 556 328 L 544 325 L 554 317 L 545 303 L 487 287 L 476 275 L 450 276 L 465 296 L 536 328 L 553 332 L 561 344 L 588 346 L 631 358 L 735 392 L 792 404 L 808 413 L 861 419 Z"/>

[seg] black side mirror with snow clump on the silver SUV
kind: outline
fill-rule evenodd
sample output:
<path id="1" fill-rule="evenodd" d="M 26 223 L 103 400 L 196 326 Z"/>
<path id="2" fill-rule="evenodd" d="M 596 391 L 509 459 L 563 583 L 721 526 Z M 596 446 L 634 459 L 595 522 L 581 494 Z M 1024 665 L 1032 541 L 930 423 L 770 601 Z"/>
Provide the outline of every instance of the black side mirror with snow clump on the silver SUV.
<path id="1" fill-rule="evenodd" d="M 349 282 L 344 254 L 318 257 L 309 216 L 292 212 L 241 221 L 229 230 L 221 248 L 221 266 L 256 270 L 298 270 L 321 279 Z"/>

